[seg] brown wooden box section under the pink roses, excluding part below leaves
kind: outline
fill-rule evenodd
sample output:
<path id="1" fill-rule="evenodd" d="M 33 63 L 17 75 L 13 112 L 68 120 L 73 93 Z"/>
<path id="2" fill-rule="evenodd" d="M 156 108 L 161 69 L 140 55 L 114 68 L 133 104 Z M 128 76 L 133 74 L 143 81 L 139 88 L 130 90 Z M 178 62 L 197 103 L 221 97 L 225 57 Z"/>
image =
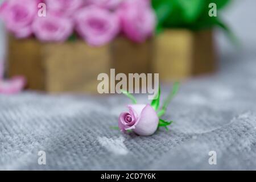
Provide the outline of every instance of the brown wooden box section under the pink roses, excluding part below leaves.
<path id="1" fill-rule="evenodd" d="M 103 47 L 90 47 L 82 40 L 40 43 L 9 36 L 9 76 L 23 75 L 28 89 L 46 92 L 97 93 L 100 73 L 147 73 L 152 40 L 135 44 L 122 36 Z"/>

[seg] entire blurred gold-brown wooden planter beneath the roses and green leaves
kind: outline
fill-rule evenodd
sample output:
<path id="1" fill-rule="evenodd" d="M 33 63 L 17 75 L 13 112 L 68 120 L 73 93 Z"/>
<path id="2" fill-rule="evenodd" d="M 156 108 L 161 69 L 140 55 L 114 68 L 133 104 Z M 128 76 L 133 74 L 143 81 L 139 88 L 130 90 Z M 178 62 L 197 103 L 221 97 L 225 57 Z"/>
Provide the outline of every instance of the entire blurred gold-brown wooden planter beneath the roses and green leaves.
<path id="1" fill-rule="evenodd" d="M 102 47 L 82 40 L 40 43 L 9 36 L 9 76 L 23 75 L 28 89 L 97 93 L 100 73 L 159 73 L 172 81 L 216 69 L 212 31 L 168 30 L 142 44 L 119 36 Z"/>

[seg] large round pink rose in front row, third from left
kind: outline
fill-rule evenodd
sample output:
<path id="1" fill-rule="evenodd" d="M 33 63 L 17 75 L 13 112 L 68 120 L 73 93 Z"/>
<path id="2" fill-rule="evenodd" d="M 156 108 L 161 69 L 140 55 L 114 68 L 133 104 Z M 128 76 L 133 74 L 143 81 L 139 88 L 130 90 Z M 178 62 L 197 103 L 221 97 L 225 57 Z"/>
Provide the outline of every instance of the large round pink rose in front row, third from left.
<path id="1" fill-rule="evenodd" d="M 75 16 L 76 31 L 90 46 L 102 46 L 119 33 L 117 14 L 96 6 L 88 6 Z"/>

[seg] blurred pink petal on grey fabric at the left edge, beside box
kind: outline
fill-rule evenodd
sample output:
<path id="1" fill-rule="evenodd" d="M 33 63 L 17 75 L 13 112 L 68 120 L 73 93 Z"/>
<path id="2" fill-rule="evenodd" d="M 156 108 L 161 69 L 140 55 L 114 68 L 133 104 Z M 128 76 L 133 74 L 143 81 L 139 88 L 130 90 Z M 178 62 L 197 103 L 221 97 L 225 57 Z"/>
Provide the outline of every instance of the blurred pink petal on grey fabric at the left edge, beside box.
<path id="1" fill-rule="evenodd" d="M 15 76 L 10 80 L 0 79 L 0 94 L 19 93 L 26 85 L 26 80 L 22 76 Z"/>

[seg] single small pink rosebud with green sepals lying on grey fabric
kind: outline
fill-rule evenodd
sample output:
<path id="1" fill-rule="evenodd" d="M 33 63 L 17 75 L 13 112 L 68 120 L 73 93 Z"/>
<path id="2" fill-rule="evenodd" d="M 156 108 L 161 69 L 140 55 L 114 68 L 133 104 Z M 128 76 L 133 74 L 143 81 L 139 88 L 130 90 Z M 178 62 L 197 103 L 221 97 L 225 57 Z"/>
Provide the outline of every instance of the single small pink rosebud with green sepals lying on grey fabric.
<path id="1" fill-rule="evenodd" d="M 166 113 L 167 106 L 177 93 L 178 88 L 179 83 L 176 82 L 172 92 L 168 95 L 161 108 L 159 108 L 160 87 L 159 92 L 151 102 L 151 105 L 137 104 L 135 98 L 123 90 L 122 93 L 131 98 L 133 105 L 128 105 L 127 107 L 129 111 L 119 115 L 118 129 L 123 132 L 133 131 L 142 136 L 154 134 L 159 127 L 165 127 L 168 130 L 167 126 L 171 125 L 172 121 L 164 121 L 164 119 L 161 119 L 160 117 Z"/>

